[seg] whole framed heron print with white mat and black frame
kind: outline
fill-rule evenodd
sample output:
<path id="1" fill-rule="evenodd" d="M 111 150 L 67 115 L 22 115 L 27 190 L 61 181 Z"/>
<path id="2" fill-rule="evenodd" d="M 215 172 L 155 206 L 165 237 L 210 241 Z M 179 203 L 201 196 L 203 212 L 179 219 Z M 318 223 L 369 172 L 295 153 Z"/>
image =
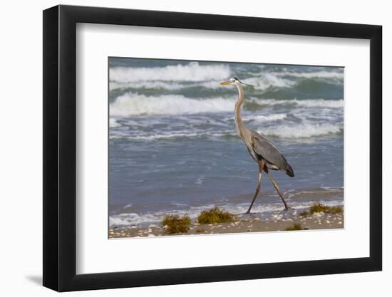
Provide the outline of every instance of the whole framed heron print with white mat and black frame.
<path id="1" fill-rule="evenodd" d="M 43 285 L 381 270 L 381 26 L 43 11 Z"/>

